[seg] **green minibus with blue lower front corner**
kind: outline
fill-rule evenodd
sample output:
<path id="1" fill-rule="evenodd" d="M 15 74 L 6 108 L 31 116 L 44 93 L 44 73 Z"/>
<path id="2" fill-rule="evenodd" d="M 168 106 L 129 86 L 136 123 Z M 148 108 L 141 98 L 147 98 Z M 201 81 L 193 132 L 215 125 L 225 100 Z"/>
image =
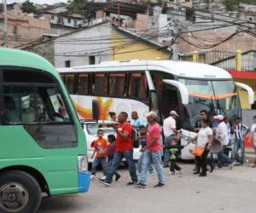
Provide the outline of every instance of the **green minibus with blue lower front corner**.
<path id="1" fill-rule="evenodd" d="M 87 192 L 86 141 L 59 74 L 39 55 L 0 48 L 0 212 L 32 213 L 43 193 Z"/>

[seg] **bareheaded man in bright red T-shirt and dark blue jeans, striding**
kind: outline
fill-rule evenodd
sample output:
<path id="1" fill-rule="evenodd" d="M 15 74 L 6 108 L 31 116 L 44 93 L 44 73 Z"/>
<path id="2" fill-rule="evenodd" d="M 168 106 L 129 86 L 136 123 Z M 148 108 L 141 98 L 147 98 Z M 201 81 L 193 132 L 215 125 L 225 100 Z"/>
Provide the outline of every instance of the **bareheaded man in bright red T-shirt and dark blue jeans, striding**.
<path id="1" fill-rule="evenodd" d="M 116 130 L 116 153 L 113 156 L 113 163 L 108 170 L 106 179 L 99 178 L 100 181 L 105 186 L 109 186 L 113 181 L 113 175 L 125 158 L 129 166 L 131 181 L 127 185 L 137 184 L 137 172 L 136 166 L 133 161 L 133 144 L 132 144 L 132 126 L 127 122 L 128 114 L 126 112 L 120 112 L 118 121 L 119 125 L 115 126 Z"/>

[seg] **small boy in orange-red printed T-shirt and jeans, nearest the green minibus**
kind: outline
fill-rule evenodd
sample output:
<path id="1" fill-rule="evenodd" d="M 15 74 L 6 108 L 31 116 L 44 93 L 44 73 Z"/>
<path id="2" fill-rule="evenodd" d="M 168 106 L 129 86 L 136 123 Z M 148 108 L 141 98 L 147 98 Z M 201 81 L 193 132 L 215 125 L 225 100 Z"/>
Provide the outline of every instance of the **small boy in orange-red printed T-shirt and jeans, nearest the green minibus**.
<path id="1" fill-rule="evenodd" d="M 92 153 L 91 158 L 94 158 L 96 154 L 96 158 L 92 163 L 91 176 L 90 179 L 94 179 L 96 176 L 96 168 L 99 164 L 102 164 L 103 175 L 107 175 L 107 148 L 108 141 L 103 138 L 103 131 L 97 131 L 98 139 L 94 141 L 94 152 Z"/>

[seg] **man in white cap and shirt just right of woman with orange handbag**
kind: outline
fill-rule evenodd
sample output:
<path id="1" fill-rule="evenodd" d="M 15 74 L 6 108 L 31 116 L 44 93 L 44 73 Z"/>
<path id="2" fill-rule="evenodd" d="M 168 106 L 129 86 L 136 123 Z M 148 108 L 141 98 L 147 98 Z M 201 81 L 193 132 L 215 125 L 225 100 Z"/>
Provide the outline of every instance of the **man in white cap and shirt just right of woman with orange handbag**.
<path id="1" fill-rule="evenodd" d="M 218 168 L 221 168 L 224 164 L 229 164 L 229 168 L 232 169 L 233 161 L 224 154 L 224 149 L 229 145 L 229 130 L 224 123 L 224 116 L 217 115 L 213 117 L 218 122 L 218 128 L 216 130 L 216 139 L 221 142 L 222 149 L 218 152 Z"/>

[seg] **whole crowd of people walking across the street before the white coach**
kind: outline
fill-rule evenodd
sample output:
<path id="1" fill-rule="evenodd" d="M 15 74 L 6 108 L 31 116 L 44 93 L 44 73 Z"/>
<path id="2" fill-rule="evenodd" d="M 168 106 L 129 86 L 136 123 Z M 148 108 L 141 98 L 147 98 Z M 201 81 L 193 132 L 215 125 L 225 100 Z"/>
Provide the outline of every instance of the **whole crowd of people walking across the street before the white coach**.
<path id="1" fill-rule="evenodd" d="M 148 112 L 147 124 L 142 119 L 138 118 L 137 112 L 131 113 L 133 124 L 127 121 L 128 114 L 120 112 L 118 117 L 114 112 L 110 113 L 111 119 L 118 122 L 113 125 L 116 131 L 116 138 L 114 135 L 108 135 L 108 142 L 103 140 L 102 131 L 98 131 L 98 140 L 94 143 L 96 158 L 93 162 L 92 177 L 96 175 L 96 166 L 102 164 L 103 177 L 98 178 L 105 186 L 110 186 L 113 182 L 118 181 L 121 177 L 117 173 L 119 164 L 125 158 L 131 181 L 127 185 L 136 185 L 137 187 L 146 187 L 148 173 L 154 175 L 154 170 L 158 176 L 158 182 L 154 187 L 165 186 L 164 167 L 170 168 L 170 175 L 175 176 L 181 174 L 182 168 L 177 164 L 177 158 L 181 149 L 184 146 L 180 145 L 182 137 L 181 132 L 177 130 L 176 120 L 178 114 L 176 111 L 171 111 L 170 116 L 164 120 L 163 128 L 158 124 L 158 116 L 156 112 Z M 117 120 L 116 120 L 117 119 Z M 230 123 L 227 116 L 215 115 L 210 118 L 207 111 L 201 110 L 200 118 L 195 124 L 194 131 L 196 136 L 190 138 L 188 144 L 195 143 L 195 149 L 201 151 L 191 150 L 195 154 L 195 172 L 199 176 L 207 176 L 207 164 L 210 166 L 210 172 L 214 170 L 215 159 L 213 158 L 213 149 L 218 147 L 218 152 L 214 152 L 218 156 L 218 168 L 228 166 L 232 169 L 234 164 L 245 163 L 245 146 L 244 136 L 252 131 L 256 134 L 256 117 L 253 117 L 254 124 L 251 129 L 241 123 L 241 118 L 236 118 L 234 124 Z M 137 128 L 139 134 L 135 141 L 141 145 L 141 157 L 138 159 L 137 165 L 133 160 L 133 128 Z M 164 144 L 160 142 L 161 131 L 165 136 Z M 256 137 L 254 137 L 256 138 Z M 187 146 L 187 145 L 185 145 Z M 256 141 L 254 140 L 254 149 L 256 156 Z M 231 150 L 231 155 L 229 154 Z M 241 156 L 238 151 L 241 150 Z M 162 162 L 162 155 L 164 152 L 164 161 Z M 212 153 L 211 153 L 212 152 Z M 211 153 L 211 158 L 208 158 Z M 154 169 L 152 167 L 154 165 Z M 256 165 L 256 160 L 255 164 Z"/>

